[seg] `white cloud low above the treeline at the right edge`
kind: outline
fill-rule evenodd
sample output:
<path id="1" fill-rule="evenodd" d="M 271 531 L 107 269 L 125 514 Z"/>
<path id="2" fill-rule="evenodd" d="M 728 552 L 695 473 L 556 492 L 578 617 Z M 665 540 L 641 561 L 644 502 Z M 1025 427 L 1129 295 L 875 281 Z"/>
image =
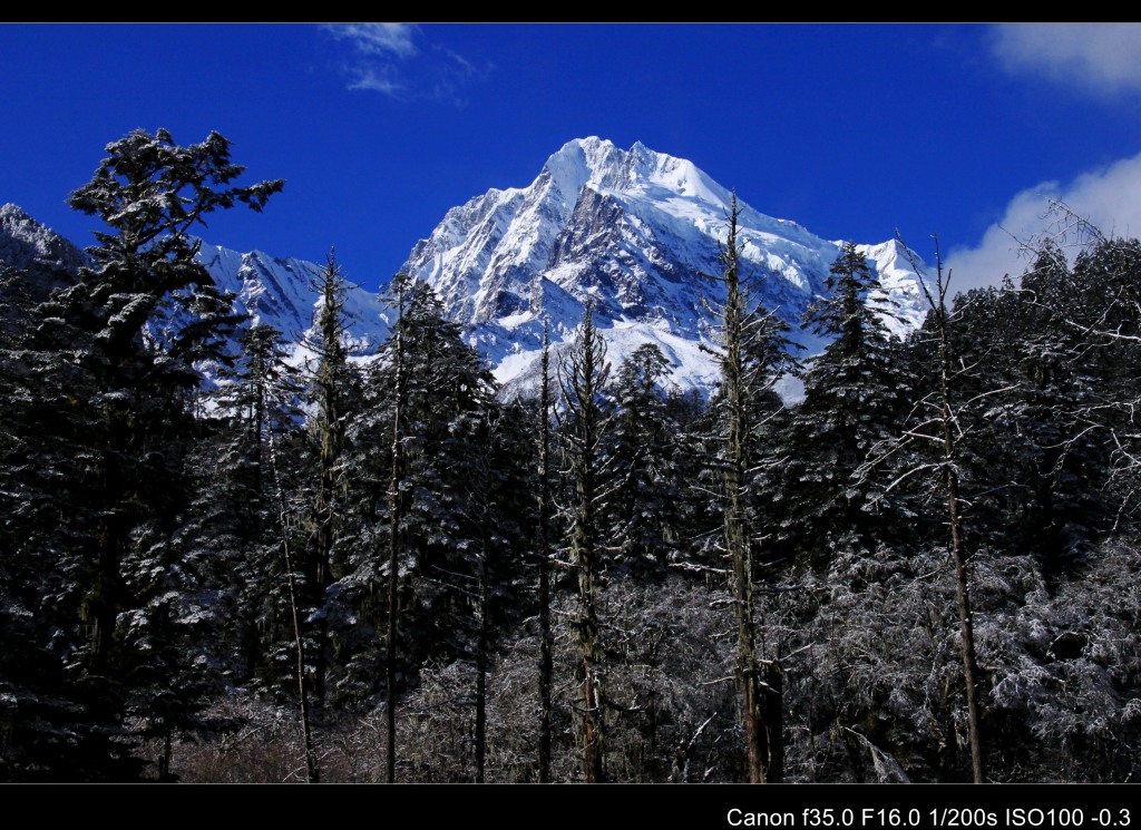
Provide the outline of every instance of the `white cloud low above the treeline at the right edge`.
<path id="1" fill-rule="evenodd" d="M 1066 234 L 1066 215 L 1050 213 L 1051 201 L 1065 203 L 1074 213 L 1106 236 L 1141 234 L 1141 154 L 1123 158 L 1102 170 L 1078 176 L 1069 185 L 1044 181 L 1022 190 L 1003 218 L 992 225 L 973 249 L 956 249 L 947 258 L 954 270 L 954 291 L 997 285 L 1004 274 L 1018 277 L 1029 263 L 1027 245 L 1054 236 L 1070 254 L 1081 239 Z M 1059 236 L 1061 234 L 1061 236 Z"/>

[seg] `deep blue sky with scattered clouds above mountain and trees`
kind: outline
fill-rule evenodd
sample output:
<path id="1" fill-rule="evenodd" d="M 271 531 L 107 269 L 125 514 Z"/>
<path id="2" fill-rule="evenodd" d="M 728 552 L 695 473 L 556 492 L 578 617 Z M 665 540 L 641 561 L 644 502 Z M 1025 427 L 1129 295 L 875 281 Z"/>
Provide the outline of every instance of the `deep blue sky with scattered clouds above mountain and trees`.
<path id="1" fill-rule="evenodd" d="M 217 130 L 244 181 L 286 185 L 202 236 L 335 245 L 374 287 L 448 208 L 600 136 L 826 238 L 899 228 L 930 259 L 938 233 L 961 277 L 993 282 L 1005 230 L 1042 229 L 1042 190 L 1141 233 L 1138 54 L 1138 26 L 0 25 L 0 203 L 88 244 L 64 200 L 106 144 Z"/>

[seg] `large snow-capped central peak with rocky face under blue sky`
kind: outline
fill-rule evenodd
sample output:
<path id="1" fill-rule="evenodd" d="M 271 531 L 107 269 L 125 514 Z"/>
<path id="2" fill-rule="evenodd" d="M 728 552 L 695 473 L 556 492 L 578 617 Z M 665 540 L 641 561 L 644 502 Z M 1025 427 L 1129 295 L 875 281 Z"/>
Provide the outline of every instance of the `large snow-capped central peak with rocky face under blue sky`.
<path id="1" fill-rule="evenodd" d="M 493 189 L 453 208 L 413 247 L 403 270 L 427 280 L 448 314 L 470 326 L 471 343 L 504 384 L 527 386 L 542 337 L 568 343 L 583 301 L 614 365 L 646 342 L 674 365 L 681 388 L 711 388 L 718 376 L 699 344 L 713 339 L 709 308 L 721 271 L 733 194 L 691 162 L 636 144 L 569 141 L 526 188 Z M 804 309 L 825 293 L 840 250 L 800 225 L 767 217 L 738 200 L 743 272 L 755 298 L 792 325 L 808 353 L 822 343 L 800 331 Z M 917 277 L 895 241 L 861 245 L 884 292 L 898 303 L 901 334 L 923 318 Z"/>

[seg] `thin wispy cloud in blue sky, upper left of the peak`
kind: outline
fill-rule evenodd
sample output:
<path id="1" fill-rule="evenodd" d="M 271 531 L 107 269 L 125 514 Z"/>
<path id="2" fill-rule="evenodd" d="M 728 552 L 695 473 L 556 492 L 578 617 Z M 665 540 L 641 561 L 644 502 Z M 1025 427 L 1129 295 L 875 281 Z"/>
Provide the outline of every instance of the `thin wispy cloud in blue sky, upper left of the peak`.
<path id="1" fill-rule="evenodd" d="M 397 100 L 431 99 L 463 105 L 462 91 L 484 74 L 445 47 L 421 48 L 420 27 L 399 23 L 324 26 L 351 47 L 341 64 L 348 88 L 381 92 Z"/>

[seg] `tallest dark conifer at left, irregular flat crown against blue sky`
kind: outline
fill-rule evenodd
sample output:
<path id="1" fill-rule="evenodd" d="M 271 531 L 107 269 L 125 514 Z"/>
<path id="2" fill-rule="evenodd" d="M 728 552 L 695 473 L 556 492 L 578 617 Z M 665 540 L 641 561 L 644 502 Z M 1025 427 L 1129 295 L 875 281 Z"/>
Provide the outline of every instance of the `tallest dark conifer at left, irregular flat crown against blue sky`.
<path id="1" fill-rule="evenodd" d="M 90 705 L 169 731 L 197 693 L 178 643 L 197 619 L 186 597 L 199 573 L 171 544 L 188 495 L 196 365 L 225 360 L 234 320 L 189 231 L 237 203 L 260 211 L 282 182 L 233 186 L 243 168 L 218 133 L 181 147 L 164 130 L 136 131 L 107 153 L 68 203 L 110 230 L 96 231 L 78 283 L 42 309 L 50 372 L 80 381 L 59 429 L 83 430 L 67 441 L 68 457 L 52 462 L 75 471 L 64 532 L 76 544 L 58 567 L 73 586 L 66 607 L 87 634 L 74 643 L 73 668 Z"/>

